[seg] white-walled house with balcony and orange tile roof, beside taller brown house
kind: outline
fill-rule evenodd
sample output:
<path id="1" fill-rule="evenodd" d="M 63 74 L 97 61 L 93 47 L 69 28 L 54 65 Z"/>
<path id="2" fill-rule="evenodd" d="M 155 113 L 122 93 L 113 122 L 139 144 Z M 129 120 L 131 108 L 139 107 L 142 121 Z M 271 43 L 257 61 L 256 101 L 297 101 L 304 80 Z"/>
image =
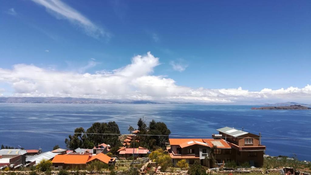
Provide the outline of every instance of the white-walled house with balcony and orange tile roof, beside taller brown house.
<path id="1" fill-rule="evenodd" d="M 211 167 L 211 148 L 214 149 L 215 157 L 219 163 L 232 159 L 231 146 L 224 139 L 169 139 L 169 146 L 166 149 L 173 160 L 173 164 L 181 159 L 186 159 L 188 164 L 200 161 L 202 165 Z"/>

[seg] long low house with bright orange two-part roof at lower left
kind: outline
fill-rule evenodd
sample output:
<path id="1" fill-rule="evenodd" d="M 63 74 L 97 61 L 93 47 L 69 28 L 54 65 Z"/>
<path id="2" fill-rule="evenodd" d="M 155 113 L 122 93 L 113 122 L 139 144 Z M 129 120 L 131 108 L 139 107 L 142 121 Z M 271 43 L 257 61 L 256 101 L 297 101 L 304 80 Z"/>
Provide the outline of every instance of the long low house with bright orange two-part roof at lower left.
<path id="1" fill-rule="evenodd" d="M 106 164 L 114 164 L 115 159 L 100 153 L 98 155 L 56 155 L 52 160 L 52 167 L 63 169 L 69 167 L 71 168 L 79 168 L 85 169 L 88 163 L 92 161 L 102 161 Z"/>

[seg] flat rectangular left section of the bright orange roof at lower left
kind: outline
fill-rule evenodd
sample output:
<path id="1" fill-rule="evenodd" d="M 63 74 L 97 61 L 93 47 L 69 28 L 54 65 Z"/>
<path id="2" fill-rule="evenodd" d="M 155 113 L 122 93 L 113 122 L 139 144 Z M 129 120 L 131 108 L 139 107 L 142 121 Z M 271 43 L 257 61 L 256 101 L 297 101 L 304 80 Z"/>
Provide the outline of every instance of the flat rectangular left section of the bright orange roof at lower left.
<path id="1" fill-rule="evenodd" d="M 52 163 L 86 164 L 90 155 L 56 155 Z"/>

